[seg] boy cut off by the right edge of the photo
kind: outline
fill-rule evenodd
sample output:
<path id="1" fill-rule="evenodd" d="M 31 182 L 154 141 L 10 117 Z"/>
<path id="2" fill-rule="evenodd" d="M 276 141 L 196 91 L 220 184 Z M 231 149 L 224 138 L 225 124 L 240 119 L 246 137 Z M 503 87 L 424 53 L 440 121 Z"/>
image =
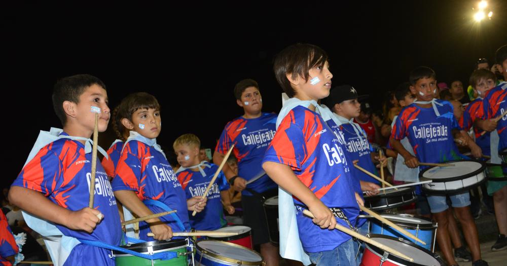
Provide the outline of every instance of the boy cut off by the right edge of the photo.
<path id="1" fill-rule="evenodd" d="M 497 69 L 507 81 L 507 45 L 504 45 L 495 53 Z M 484 116 L 483 120 L 477 119 L 475 125 L 483 130 L 491 132 L 491 162 L 499 164 L 502 162 L 498 153 L 507 148 L 507 117 L 503 116 L 507 110 L 507 82 L 501 82 L 495 88 L 489 90 L 484 97 Z M 507 174 L 507 169 L 503 168 L 503 174 Z M 493 183 L 492 181 L 488 181 Z M 507 248 L 507 186 L 505 182 L 488 183 L 488 193 L 493 194 L 493 204 L 495 206 L 496 222 L 498 224 L 498 239 L 491 247 L 493 251 Z"/>

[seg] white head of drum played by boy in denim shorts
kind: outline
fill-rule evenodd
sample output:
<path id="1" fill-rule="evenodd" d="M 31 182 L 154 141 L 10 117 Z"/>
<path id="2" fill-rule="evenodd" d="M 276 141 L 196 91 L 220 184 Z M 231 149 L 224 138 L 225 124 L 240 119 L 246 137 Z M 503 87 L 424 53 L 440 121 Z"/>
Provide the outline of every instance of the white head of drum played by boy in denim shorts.
<path id="1" fill-rule="evenodd" d="M 446 162 L 454 166 L 431 166 L 419 173 L 421 181 L 446 182 L 477 175 L 484 171 L 486 164 L 474 160 Z"/>

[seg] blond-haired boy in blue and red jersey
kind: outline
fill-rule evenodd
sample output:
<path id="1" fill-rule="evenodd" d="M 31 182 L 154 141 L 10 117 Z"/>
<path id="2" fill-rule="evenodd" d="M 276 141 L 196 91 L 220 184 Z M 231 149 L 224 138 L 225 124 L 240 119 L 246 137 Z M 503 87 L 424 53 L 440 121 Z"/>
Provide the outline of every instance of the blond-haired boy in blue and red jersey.
<path id="1" fill-rule="evenodd" d="M 219 166 L 200 160 L 199 148 L 201 141 L 194 134 L 179 136 L 174 140 L 172 146 L 178 164 L 181 166 L 176 171 L 176 177 L 179 183 L 182 184 L 187 199 L 202 196 Z M 195 216 L 190 216 L 190 226 L 192 228 L 212 231 L 227 224 L 223 209 L 226 209 L 229 214 L 234 213 L 228 189 L 229 183 L 227 183 L 224 173 L 220 171 L 206 195 L 208 198 L 206 208 Z"/>

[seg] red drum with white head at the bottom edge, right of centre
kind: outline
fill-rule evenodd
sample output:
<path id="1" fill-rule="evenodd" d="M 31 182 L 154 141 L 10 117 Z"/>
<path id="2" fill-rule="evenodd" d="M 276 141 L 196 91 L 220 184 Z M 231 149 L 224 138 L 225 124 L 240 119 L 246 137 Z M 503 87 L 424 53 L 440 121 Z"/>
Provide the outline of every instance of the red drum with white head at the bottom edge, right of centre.
<path id="1" fill-rule="evenodd" d="M 379 242 L 380 244 L 386 245 L 396 251 L 411 257 L 414 262 L 405 260 L 397 257 L 386 251 L 375 247 L 371 244 L 366 244 L 365 253 L 363 254 L 363 260 L 361 260 L 360 266 L 440 266 L 445 265 L 442 258 L 426 250 L 412 242 L 406 241 L 402 238 L 397 239 L 382 235 L 372 235 L 372 240 Z"/>

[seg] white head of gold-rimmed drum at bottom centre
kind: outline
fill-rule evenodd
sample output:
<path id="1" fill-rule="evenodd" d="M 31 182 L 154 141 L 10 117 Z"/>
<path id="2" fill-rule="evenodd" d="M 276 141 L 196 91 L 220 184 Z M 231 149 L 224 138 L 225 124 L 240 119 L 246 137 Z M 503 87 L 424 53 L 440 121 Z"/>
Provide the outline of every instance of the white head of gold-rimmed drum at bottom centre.
<path id="1" fill-rule="evenodd" d="M 201 254 L 224 261 L 235 263 L 242 261 L 242 264 L 247 265 L 258 265 L 262 262 L 262 257 L 259 253 L 229 242 L 203 240 L 197 242 L 197 249 Z"/>

